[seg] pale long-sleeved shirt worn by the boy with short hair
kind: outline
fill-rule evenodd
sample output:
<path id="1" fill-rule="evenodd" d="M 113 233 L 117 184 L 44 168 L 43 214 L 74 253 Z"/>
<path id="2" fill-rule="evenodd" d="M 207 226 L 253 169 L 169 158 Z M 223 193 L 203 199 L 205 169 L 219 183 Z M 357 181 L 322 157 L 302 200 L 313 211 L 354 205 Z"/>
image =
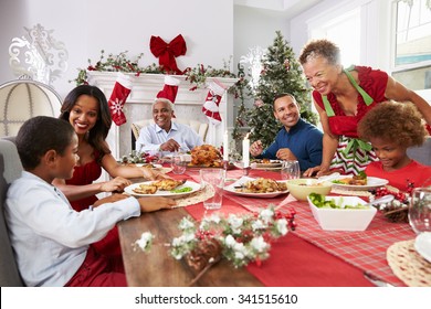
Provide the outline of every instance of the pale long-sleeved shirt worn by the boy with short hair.
<path id="1" fill-rule="evenodd" d="M 135 198 L 76 212 L 64 194 L 39 177 L 22 172 L 9 188 L 9 235 L 27 286 L 64 286 L 85 259 L 88 244 L 114 225 L 139 216 Z"/>

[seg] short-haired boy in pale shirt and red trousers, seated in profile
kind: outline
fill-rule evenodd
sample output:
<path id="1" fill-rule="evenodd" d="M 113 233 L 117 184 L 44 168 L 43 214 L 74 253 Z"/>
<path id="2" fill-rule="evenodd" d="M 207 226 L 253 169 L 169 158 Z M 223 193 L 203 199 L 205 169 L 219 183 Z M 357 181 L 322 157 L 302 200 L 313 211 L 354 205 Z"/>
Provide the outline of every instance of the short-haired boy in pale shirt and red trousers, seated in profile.
<path id="1" fill-rule="evenodd" d="M 73 127 L 61 119 L 34 117 L 23 124 L 15 143 L 24 171 L 9 188 L 6 219 L 25 285 L 127 286 L 123 265 L 97 255 L 91 244 L 118 221 L 169 209 L 175 201 L 114 196 L 111 201 L 119 201 L 76 212 L 51 184 L 73 174 L 78 160 Z"/>

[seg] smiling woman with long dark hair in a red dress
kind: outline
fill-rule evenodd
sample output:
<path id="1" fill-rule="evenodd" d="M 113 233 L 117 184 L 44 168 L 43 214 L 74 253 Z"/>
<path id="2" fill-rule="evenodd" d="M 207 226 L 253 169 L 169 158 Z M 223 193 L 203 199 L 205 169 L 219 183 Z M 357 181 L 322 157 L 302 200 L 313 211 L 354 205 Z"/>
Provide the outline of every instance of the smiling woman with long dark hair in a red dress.
<path id="1" fill-rule="evenodd" d="M 115 160 L 105 140 L 112 125 L 109 107 L 99 88 L 81 85 L 72 89 L 64 99 L 59 118 L 73 126 L 78 138 L 80 160 L 72 179 L 55 179 L 53 184 L 66 195 L 74 210 L 88 209 L 101 192 L 123 191 L 132 183 L 128 178 L 164 178 L 148 168 L 120 166 Z M 102 169 L 113 179 L 94 182 L 101 177 Z M 120 254 L 116 228 L 95 246 L 103 254 Z"/>

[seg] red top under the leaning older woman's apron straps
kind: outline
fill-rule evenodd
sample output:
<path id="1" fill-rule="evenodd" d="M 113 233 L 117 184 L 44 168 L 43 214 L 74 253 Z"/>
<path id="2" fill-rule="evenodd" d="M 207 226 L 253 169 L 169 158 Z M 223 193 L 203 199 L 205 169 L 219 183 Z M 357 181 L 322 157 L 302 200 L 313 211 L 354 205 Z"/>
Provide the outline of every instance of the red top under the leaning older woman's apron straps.
<path id="1" fill-rule="evenodd" d="M 359 120 L 362 119 L 364 115 L 375 107 L 377 103 L 387 100 L 385 90 L 388 83 L 388 74 L 379 70 L 372 70 L 368 66 L 355 66 L 354 70 L 358 72 L 359 86 L 374 99 L 374 103 L 367 106 L 362 96 L 358 94 L 357 115 L 346 116 L 333 93 L 329 93 L 327 98 L 335 113 L 335 116 L 328 118 L 330 131 L 335 135 L 357 138 L 358 134 L 356 129 Z M 322 109 L 325 109 L 322 95 L 318 92 L 313 92 L 313 98 Z"/>

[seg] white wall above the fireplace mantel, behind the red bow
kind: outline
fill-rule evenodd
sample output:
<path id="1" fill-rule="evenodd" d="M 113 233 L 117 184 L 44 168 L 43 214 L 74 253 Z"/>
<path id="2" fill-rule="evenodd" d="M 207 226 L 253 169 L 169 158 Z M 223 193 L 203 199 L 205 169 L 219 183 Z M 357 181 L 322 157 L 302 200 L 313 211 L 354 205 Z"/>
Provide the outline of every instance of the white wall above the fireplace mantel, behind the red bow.
<path id="1" fill-rule="evenodd" d="M 74 87 L 69 81 L 76 68 L 88 58 L 96 62 L 101 50 L 106 55 L 127 50 L 129 57 L 143 52 L 143 66 L 158 63 L 149 51 L 151 35 L 167 42 L 185 36 L 188 51 L 177 58 L 181 70 L 200 63 L 221 68 L 233 56 L 232 0 L 1 0 L 0 22 L 0 84 L 15 78 L 9 68 L 12 39 L 40 23 L 69 51 L 69 70 L 53 84 L 62 97 Z"/>

